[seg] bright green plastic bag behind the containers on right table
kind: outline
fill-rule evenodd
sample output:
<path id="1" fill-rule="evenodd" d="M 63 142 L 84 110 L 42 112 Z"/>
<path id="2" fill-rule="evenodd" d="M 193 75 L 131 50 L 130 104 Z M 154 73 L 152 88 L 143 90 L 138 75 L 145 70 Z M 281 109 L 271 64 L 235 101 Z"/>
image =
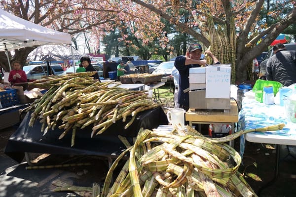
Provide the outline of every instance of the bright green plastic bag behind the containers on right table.
<path id="1" fill-rule="evenodd" d="M 263 102 L 263 87 L 272 86 L 274 96 L 279 91 L 283 84 L 273 80 L 261 80 L 258 79 L 253 86 L 253 92 L 255 92 L 256 101 L 262 103 Z"/>

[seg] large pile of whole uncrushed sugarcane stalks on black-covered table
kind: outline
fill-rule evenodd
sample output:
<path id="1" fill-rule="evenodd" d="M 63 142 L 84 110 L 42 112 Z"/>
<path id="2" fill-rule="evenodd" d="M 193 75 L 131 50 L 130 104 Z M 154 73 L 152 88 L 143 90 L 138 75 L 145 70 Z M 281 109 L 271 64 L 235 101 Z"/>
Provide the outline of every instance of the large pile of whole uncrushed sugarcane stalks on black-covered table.
<path id="1" fill-rule="evenodd" d="M 87 72 L 88 73 L 88 72 Z M 128 128 L 139 112 L 157 108 L 159 105 L 148 98 L 145 91 L 131 91 L 119 87 L 108 87 L 111 82 L 99 82 L 91 74 L 39 79 L 36 84 L 50 87 L 48 91 L 26 109 L 33 111 L 29 126 L 36 120 L 42 122 L 41 131 L 56 127 L 64 130 L 59 139 L 72 131 L 72 146 L 77 128 L 93 124 L 90 137 L 103 133 L 118 120 L 126 121 Z M 84 75 L 83 75 L 84 74 Z M 119 85 L 119 84 L 118 84 Z"/>

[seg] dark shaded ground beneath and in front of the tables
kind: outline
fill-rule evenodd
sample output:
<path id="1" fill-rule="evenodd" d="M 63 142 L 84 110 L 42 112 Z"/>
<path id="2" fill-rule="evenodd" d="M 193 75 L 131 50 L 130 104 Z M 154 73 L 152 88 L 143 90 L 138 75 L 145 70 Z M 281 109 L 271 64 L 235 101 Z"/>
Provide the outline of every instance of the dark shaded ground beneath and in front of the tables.
<path id="1" fill-rule="evenodd" d="M 103 185 L 108 171 L 108 162 L 98 157 L 69 157 L 42 155 L 40 165 L 60 163 L 88 163 L 89 165 L 52 168 L 52 169 L 26 169 L 26 161 L 17 163 L 3 154 L 7 139 L 14 132 L 10 127 L 0 130 L 0 197 L 79 197 L 71 192 L 53 192 L 53 181 L 62 180 L 75 186 L 91 187 L 92 183 Z M 238 150 L 238 142 L 235 141 Z M 283 156 L 287 155 L 283 147 Z M 291 154 L 296 156 L 296 149 L 291 148 Z M 35 155 L 33 155 L 35 157 Z M 32 157 L 33 157 L 32 156 Z M 250 186 L 258 192 L 273 177 L 275 164 L 275 150 L 272 146 L 263 146 L 256 143 L 246 143 L 243 158 L 244 165 L 239 171 L 246 177 Z M 280 172 L 293 172 L 296 174 L 296 159 L 288 156 L 281 158 Z M 296 177 L 294 177 L 296 178 Z M 296 179 L 280 176 L 270 187 L 262 190 L 261 197 L 295 197 Z"/>

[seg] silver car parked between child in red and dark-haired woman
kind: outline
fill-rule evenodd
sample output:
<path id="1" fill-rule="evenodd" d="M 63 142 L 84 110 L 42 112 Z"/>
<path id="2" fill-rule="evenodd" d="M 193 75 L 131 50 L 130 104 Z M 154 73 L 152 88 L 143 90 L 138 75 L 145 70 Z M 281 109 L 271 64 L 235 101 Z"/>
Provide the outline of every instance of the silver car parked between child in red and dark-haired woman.
<path id="1" fill-rule="evenodd" d="M 59 64 L 52 64 L 51 66 L 52 73 L 54 75 L 65 75 L 66 72 L 63 70 L 62 66 Z M 34 81 L 36 79 L 41 79 L 42 76 L 47 75 L 47 65 L 28 65 L 24 66 L 23 70 L 27 75 L 28 81 Z"/>

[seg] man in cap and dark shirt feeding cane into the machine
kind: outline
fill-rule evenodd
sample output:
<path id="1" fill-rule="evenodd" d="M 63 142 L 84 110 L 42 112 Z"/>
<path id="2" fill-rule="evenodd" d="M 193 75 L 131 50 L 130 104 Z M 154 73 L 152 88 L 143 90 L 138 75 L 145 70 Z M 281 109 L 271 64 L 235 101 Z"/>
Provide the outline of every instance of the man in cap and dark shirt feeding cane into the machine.
<path id="1" fill-rule="evenodd" d="M 175 60 L 175 67 L 179 71 L 179 91 L 178 91 L 178 103 L 180 108 L 185 111 L 189 109 L 189 94 L 188 91 L 184 92 L 189 88 L 189 69 L 193 67 L 206 66 L 207 62 L 201 59 L 202 47 L 200 44 L 190 44 L 187 48 L 186 55 L 178 56 Z M 220 64 L 219 60 L 213 55 L 210 50 L 206 50 L 205 54 L 208 54 L 214 61 L 214 64 Z"/>

